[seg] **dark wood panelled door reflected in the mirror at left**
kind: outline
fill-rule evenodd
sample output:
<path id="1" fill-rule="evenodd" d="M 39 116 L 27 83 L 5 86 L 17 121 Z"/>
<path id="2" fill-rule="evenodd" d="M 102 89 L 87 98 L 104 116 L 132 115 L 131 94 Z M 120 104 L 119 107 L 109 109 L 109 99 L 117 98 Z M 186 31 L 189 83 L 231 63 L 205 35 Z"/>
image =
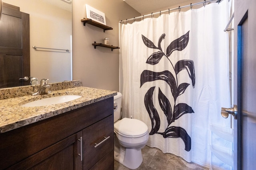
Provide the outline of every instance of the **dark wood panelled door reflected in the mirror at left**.
<path id="1" fill-rule="evenodd" d="M 28 85 L 30 76 L 29 14 L 3 3 L 0 18 L 0 88 Z"/>

